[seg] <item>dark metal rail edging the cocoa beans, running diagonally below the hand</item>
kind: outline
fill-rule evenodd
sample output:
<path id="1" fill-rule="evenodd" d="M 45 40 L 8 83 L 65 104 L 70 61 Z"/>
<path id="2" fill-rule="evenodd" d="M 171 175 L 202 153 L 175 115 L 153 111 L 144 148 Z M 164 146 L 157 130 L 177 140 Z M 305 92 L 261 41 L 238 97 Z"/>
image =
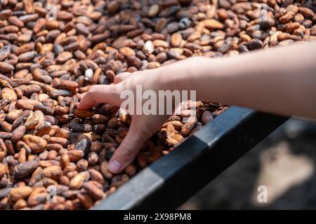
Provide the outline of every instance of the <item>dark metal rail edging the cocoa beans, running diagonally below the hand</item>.
<path id="1" fill-rule="evenodd" d="M 93 209 L 176 209 L 287 119 L 232 106 Z"/>

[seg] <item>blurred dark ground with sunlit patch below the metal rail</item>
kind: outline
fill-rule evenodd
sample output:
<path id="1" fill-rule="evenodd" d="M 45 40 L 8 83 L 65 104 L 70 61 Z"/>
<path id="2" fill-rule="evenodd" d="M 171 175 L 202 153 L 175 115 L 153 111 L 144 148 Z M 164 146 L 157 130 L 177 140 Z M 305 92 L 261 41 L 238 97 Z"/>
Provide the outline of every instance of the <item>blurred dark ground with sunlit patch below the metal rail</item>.
<path id="1" fill-rule="evenodd" d="M 316 209 L 315 169 L 316 123 L 291 118 L 179 209 Z"/>

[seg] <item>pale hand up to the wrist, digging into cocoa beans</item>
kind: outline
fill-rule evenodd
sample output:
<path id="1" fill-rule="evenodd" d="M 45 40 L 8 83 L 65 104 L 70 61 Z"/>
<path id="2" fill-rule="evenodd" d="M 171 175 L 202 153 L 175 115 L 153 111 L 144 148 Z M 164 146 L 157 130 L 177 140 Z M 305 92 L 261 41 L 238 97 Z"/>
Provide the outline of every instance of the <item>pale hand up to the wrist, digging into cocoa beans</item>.
<path id="1" fill-rule="evenodd" d="M 136 95 L 136 85 L 141 85 L 145 90 L 159 90 L 159 83 L 154 81 L 159 69 L 138 71 L 135 73 L 120 73 L 114 79 L 114 85 L 94 85 L 86 92 L 78 108 L 89 109 L 96 102 L 110 103 L 120 106 L 124 99 L 120 99 L 123 90 L 131 90 Z M 149 78 L 151 76 L 152 78 Z M 136 104 L 135 104 L 136 107 Z M 154 132 L 157 132 L 169 116 L 131 115 L 131 127 L 121 145 L 110 160 L 109 169 L 117 174 L 133 162 L 141 146 Z"/>

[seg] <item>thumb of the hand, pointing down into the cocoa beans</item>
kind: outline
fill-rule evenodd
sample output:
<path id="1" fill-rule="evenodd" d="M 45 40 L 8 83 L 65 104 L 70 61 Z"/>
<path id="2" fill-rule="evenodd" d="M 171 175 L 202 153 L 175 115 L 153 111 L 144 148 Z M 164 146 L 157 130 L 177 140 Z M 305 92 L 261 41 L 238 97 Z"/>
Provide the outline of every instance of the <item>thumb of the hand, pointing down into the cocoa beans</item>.
<path id="1" fill-rule="evenodd" d="M 132 126 L 110 160 L 109 169 L 114 174 L 118 174 L 133 162 L 141 146 L 147 140 L 147 137 Z"/>

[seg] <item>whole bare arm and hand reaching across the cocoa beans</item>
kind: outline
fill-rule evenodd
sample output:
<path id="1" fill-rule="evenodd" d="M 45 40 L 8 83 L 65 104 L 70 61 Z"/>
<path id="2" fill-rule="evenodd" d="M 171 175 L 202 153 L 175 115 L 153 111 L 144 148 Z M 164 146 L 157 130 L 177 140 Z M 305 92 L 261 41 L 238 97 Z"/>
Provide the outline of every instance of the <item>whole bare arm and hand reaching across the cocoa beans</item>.
<path id="1" fill-rule="evenodd" d="M 158 69 L 120 73 L 114 85 L 91 87 L 78 104 L 120 106 L 123 90 L 197 90 L 197 100 L 223 102 L 284 116 L 316 118 L 316 42 L 256 50 L 237 57 L 192 57 Z M 132 116 L 124 141 L 110 160 L 117 174 L 169 116 Z"/>

